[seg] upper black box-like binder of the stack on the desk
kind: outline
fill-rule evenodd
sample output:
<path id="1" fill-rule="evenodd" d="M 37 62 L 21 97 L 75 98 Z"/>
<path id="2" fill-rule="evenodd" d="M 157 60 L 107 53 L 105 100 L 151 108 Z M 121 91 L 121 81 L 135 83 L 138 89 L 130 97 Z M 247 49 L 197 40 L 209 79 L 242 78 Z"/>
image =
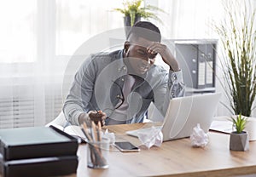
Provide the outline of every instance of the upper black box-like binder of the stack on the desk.
<path id="1" fill-rule="evenodd" d="M 0 129 L 3 161 L 76 155 L 78 141 L 53 126 Z"/>

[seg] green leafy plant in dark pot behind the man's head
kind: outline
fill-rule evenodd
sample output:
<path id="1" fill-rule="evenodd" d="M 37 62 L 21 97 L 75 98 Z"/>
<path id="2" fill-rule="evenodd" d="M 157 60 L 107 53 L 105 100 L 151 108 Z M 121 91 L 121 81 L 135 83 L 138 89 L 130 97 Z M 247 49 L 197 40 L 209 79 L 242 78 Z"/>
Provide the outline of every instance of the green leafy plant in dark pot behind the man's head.
<path id="1" fill-rule="evenodd" d="M 123 9 L 116 8 L 114 10 L 125 15 L 125 26 L 133 26 L 137 21 L 141 20 L 141 18 L 144 18 L 145 20 L 154 19 L 161 22 L 160 18 L 154 14 L 154 12 L 164 12 L 162 9 L 152 5 L 145 6 L 143 0 L 127 0 L 123 3 L 123 6 Z"/>

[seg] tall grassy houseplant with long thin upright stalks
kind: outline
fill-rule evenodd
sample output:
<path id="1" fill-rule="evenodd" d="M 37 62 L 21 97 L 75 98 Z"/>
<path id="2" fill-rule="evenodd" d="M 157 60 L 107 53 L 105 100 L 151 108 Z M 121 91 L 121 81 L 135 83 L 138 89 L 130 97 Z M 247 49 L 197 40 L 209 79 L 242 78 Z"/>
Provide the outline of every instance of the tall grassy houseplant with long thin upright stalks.
<path id="1" fill-rule="evenodd" d="M 250 1 L 225 1 L 224 20 L 215 29 L 224 49 L 220 58 L 224 91 L 236 115 L 250 117 L 256 95 L 255 9 Z"/>

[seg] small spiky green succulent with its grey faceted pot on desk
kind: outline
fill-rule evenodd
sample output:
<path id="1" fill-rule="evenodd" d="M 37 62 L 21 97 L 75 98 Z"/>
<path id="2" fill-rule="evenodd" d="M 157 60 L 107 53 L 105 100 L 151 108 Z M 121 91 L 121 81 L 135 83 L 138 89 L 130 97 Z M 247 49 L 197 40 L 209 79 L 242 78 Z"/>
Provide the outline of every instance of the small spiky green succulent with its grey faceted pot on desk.
<path id="1" fill-rule="evenodd" d="M 244 131 L 247 117 L 242 117 L 241 114 L 239 114 L 237 117 L 231 117 L 231 120 L 236 131 L 230 134 L 230 150 L 247 151 L 249 149 L 249 139 L 247 132 Z"/>

